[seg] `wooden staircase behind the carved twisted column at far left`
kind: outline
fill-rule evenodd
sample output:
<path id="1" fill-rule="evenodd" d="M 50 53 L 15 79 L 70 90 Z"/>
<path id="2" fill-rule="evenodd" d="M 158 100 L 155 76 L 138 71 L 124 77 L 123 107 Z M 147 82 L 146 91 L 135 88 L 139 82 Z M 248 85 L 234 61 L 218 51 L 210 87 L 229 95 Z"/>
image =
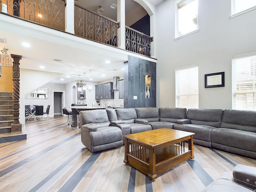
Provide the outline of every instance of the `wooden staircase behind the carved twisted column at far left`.
<path id="1" fill-rule="evenodd" d="M 0 92 L 0 143 L 26 140 L 25 128 L 22 133 L 11 134 L 12 114 L 12 92 Z"/>

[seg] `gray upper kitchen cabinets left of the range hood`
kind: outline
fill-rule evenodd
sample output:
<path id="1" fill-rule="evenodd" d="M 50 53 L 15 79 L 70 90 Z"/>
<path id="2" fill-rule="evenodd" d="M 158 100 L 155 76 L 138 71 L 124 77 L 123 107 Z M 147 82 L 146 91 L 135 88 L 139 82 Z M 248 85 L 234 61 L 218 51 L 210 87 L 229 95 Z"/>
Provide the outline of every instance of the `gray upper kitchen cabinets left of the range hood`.
<path id="1" fill-rule="evenodd" d="M 114 99 L 113 82 L 95 85 L 95 99 Z"/>

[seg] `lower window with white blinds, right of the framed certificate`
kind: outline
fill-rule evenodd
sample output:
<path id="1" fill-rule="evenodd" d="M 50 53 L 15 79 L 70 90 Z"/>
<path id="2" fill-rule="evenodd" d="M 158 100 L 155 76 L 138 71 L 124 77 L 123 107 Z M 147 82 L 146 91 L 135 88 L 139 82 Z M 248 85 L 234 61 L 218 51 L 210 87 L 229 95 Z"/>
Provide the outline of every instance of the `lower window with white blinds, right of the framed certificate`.
<path id="1" fill-rule="evenodd" d="M 233 107 L 256 111 L 256 52 L 232 58 Z"/>

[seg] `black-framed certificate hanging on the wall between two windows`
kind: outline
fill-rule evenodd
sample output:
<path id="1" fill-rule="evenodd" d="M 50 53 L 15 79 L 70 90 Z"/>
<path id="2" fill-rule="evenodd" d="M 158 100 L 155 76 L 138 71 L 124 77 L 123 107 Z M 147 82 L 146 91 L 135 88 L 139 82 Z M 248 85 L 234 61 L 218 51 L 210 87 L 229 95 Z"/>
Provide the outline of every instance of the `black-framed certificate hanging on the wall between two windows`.
<path id="1" fill-rule="evenodd" d="M 204 87 L 224 87 L 224 72 L 205 74 Z"/>

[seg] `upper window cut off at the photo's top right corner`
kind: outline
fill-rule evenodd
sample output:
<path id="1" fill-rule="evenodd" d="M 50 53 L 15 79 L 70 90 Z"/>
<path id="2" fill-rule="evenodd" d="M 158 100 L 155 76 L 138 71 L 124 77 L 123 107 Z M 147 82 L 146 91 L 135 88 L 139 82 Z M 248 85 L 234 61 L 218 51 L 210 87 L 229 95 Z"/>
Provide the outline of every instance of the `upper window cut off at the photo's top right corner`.
<path id="1" fill-rule="evenodd" d="M 232 16 L 230 18 L 254 9 L 256 9 L 256 0 L 232 0 Z"/>

